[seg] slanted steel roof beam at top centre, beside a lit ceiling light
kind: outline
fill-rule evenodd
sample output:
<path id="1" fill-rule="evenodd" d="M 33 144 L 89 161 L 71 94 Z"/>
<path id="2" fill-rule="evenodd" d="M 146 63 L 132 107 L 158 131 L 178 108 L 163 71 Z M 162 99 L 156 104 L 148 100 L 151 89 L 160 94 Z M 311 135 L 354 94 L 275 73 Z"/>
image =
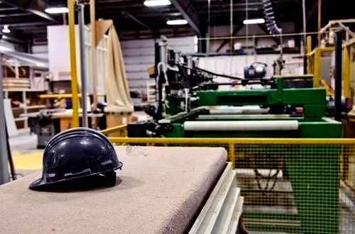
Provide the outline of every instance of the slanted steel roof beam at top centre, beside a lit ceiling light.
<path id="1" fill-rule="evenodd" d="M 185 18 L 190 27 L 195 30 L 198 35 L 201 35 L 200 32 L 200 21 L 197 16 L 197 12 L 190 3 L 189 0 L 171 0 L 171 3 L 175 8 L 181 13 L 182 17 Z"/>

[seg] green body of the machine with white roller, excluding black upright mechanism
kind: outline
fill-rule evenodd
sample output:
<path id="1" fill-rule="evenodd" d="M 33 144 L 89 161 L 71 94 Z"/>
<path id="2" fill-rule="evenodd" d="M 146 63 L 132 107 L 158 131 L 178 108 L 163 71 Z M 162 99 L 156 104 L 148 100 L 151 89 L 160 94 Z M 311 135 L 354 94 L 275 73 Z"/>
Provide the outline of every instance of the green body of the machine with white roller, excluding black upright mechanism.
<path id="1" fill-rule="evenodd" d="M 196 108 L 158 121 L 162 135 L 166 138 L 342 137 L 342 124 L 326 117 L 325 89 L 284 89 L 283 79 L 277 79 L 276 84 L 277 89 L 196 91 L 192 99 Z M 247 105 L 269 109 L 261 108 L 258 112 L 247 108 L 207 108 Z M 270 114 L 272 111 L 277 114 Z"/>

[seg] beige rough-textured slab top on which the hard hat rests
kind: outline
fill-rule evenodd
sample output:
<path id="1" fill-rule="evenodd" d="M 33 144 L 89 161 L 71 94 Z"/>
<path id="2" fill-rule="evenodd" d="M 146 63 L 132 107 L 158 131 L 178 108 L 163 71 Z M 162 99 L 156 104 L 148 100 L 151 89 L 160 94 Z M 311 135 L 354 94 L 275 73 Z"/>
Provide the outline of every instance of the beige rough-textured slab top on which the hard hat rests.
<path id="1" fill-rule="evenodd" d="M 126 155 L 115 186 L 31 191 L 41 173 L 0 186 L 1 233 L 186 233 L 226 166 L 226 150 L 145 147 Z"/>

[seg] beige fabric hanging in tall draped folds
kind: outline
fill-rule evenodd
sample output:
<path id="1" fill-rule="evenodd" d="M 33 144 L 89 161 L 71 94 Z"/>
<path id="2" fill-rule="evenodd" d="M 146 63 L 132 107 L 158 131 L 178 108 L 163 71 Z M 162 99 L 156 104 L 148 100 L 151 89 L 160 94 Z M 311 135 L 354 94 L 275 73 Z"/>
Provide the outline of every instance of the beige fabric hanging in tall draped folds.
<path id="1" fill-rule="evenodd" d="M 124 69 L 124 57 L 114 24 L 111 24 L 109 28 L 109 38 L 107 40 L 105 91 L 107 96 L 105 112 L 133 112 L 133 101 L 129 95 L 126 69 Z"/>

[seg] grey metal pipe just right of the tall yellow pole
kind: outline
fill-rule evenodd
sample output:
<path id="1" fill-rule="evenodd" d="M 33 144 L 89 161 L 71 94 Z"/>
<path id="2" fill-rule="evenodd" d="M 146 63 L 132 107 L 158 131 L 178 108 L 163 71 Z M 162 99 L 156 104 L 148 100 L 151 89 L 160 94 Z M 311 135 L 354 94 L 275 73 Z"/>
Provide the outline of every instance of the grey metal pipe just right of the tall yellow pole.
<path id="1" fill-rule="evenodd" d="M 77 11 L 79 23 L 79 41 L 80 41 L 80 79 L 82 81 L 82 126 L 88 127 L 87 122 L 87 66 L 85 55 L 85 40 L 84 40 L 84 4 L 79 4 Z"/>

